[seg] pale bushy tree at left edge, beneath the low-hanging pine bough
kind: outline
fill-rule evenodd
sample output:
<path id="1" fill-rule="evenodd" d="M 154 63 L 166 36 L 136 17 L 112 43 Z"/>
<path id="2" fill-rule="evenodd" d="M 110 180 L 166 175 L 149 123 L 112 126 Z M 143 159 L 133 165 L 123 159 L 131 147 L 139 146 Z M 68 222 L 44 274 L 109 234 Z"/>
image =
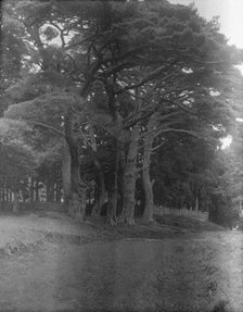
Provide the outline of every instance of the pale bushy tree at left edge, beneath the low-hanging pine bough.
<path id="1" fill-rule="evenodd" d="M 27 187 L 27 177 L 35 173 L 38 154 L 33 150 L 31 128 L 23 122 L 0 120 L 1 165 L 0 188 L 1 201 L 5 200 L 7 191 L 24 196 Z"/>

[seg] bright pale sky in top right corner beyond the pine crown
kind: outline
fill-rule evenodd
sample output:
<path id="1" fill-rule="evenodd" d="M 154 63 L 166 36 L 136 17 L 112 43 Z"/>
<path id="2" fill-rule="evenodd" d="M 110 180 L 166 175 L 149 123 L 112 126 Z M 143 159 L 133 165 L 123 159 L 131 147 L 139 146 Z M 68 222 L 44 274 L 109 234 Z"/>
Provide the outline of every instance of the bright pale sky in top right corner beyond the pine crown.
<path id="1" fill-rule="evenodd" d="M 243 0 L 169 0 L 171 3 L 190 4 L 194 2 L 200 15 L 210 20 L 219 15 L 221 33 L 229 43 L 243 48 Z"/>

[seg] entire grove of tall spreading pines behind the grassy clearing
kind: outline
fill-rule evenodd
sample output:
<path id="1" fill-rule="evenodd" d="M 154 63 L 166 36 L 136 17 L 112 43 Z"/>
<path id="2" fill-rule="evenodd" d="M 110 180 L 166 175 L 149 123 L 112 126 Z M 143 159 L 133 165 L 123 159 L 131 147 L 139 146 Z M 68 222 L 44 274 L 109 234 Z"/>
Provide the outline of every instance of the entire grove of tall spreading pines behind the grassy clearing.
<path id="1" fill-rule="evenodd" d="M 243 52 L 216 17 L 165 0 L 7 0 L 1 11 L 1 201 L 39 200 L 44 186 L 80 221 L 88 207 L 113 225 L 153 221 L 154 204 L 234 215 Z"/>

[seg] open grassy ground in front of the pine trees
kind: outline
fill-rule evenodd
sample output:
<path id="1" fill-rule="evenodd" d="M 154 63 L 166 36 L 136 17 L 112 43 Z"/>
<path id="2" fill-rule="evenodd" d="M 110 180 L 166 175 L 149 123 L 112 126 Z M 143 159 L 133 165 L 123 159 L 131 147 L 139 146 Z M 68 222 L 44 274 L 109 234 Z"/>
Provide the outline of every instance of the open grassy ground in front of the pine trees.
<path id="1" fill-rule="evenodd" d="M 1 215 L 0 311 L 242 311 L 242 233 L 164 223 Z"/>

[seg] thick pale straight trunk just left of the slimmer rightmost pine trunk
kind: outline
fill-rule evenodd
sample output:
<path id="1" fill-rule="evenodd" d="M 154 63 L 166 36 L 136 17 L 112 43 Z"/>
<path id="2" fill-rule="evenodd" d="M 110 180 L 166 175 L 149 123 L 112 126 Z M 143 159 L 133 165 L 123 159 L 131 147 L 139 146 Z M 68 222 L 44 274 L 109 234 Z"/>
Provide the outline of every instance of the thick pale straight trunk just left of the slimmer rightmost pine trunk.
<path id="1" fill-rule="evenodd" d="M 120 221 L 133 225 L 135 224 L 135 192 L 137 180 L 137 155 L 139 146 L 139 125 L 135 125 L 131 130 L 130 143 L 124 171 L 124 201 Z"/>

